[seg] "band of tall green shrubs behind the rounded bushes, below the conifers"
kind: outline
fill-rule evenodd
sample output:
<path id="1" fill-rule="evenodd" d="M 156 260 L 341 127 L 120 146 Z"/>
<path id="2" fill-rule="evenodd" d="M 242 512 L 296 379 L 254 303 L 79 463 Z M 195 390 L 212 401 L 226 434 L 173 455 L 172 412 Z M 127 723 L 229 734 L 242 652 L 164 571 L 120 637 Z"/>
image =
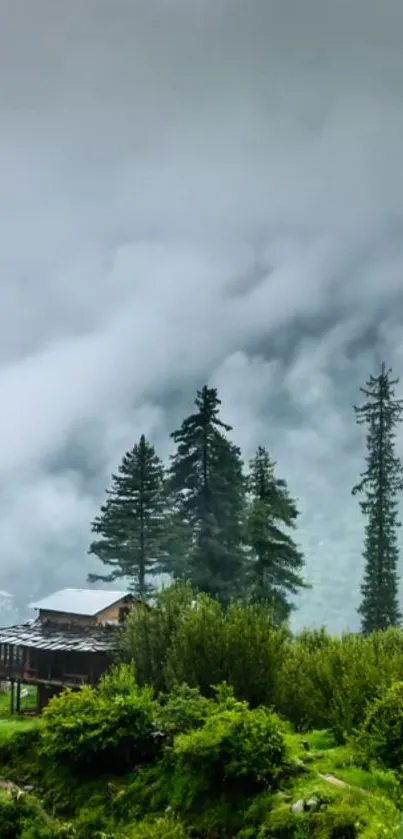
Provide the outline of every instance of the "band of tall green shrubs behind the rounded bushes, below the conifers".
<path id="1" fill-rule="evenodd" d="M 264 603 L 224 608 L 182 584 L 166 589 L 152 610 L 133 610 L 124 644 L 142 684 L 164 693 L 187 684 L 213 697 L 213 686 L 227 682 L 251 707 L 272 705 L 300 731 L 330 728 L 338 742 L 403 680 L 398 628 L 341 638 L 305 630 L 293 638 Z"/>

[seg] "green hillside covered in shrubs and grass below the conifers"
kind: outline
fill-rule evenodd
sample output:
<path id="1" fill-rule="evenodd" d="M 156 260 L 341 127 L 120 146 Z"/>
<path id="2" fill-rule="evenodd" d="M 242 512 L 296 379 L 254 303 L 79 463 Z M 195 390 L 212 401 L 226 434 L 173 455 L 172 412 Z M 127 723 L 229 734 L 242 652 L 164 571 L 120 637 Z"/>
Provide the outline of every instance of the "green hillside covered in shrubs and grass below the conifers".
<path id="1" fill-rule="evenodd" d="M 184 585 L 97 690 L 0 718 L 2 839 L 401 839 L 403 633 L 291 637 Z"/>

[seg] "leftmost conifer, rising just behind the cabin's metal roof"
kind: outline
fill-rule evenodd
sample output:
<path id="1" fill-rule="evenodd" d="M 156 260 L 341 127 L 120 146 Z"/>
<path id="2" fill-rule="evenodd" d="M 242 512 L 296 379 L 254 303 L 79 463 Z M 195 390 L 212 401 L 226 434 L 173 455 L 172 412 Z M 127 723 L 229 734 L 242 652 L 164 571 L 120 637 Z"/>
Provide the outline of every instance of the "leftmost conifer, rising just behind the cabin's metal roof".
<path id="1" fill-rule="evenodd" d="M 99 538 L 89 553 L 111 568 L 106 575 L 90 574 L 89 582 L 130 581 L 130 590 L 148 594 L 147 577 L 158 573 L 167 542 L 167 502 L 164 466 L 144 434 L 126 452 L 112 487 L 92 524 Z"/>

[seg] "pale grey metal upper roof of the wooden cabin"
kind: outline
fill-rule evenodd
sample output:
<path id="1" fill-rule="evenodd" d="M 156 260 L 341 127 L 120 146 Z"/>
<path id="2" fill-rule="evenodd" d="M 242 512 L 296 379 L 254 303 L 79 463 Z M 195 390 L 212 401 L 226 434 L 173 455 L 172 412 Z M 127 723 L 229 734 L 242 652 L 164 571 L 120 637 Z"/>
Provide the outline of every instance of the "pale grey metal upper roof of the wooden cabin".
<path id="1" fill-rule="evenodd" d="M 64 588 L 56 591 L 37 603 L 31 603 L 32 609 L 46 609 L 49 612 L 65 612 L 68 615 L 94 617 L 108 606 L 113 606 L 124 597 L 127 591 L 104 591 L 87 588 Z"/>

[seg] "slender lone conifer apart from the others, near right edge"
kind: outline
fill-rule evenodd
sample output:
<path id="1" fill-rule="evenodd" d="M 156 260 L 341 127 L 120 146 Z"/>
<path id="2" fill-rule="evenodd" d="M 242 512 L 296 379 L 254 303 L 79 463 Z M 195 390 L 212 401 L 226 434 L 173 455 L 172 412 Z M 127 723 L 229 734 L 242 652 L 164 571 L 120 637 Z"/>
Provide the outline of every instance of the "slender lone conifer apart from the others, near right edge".
<path id="1" fill-rule="evenodd" d="M 398 379 L 382 364 L 379 376 L 370 376 L 360 388 L 366 397 L 354 406 L 359 425 L 367 426 L 366 469 L 353 495 L 364 494 L 361 510 L 365 527 L 364 580 L 359 614 L 362 631 L 372 632 L 398 625 L 398 494 L 403 489 L 403 468 L 395 453 L 396 426 L 403 415 L 403 400 L 395 399 Z"/>

